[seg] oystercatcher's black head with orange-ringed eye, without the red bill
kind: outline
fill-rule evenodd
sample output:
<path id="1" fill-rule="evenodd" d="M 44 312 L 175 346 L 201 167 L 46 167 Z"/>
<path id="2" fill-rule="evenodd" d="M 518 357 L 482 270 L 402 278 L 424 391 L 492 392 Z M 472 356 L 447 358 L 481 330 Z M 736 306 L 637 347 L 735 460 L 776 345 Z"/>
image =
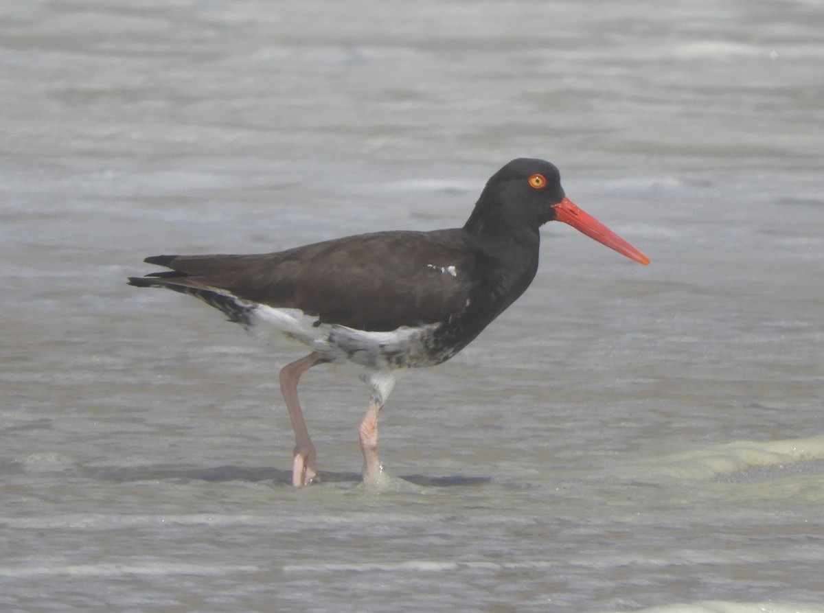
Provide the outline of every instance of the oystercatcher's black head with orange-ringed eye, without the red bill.
<path id="1" fill-rule="evenodd" d="M 475 233 L 537 232 L 564 199 L 560 173 L 548 161 L 520 157 L 489 178 L 464 228 Z"/>

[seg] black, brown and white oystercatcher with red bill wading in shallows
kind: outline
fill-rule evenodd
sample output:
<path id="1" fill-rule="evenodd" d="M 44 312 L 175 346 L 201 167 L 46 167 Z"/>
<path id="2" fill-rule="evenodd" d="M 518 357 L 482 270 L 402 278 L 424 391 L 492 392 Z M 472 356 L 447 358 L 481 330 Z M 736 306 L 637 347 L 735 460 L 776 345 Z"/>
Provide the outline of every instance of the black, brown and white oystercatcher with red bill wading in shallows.
<path id="1" fill-rule="evenodd" d="M 552 220 L 649 263 L 566 198 L 554 165 L 521 158 L 492 175 L 461 228 L 361 234 L 262 255 L 155 255 L 144 261 L 171 270 L 129 283 L 191 294 L 230 321 L 273 326 L 311 349 L 280 371 L 295 486 L 316 479 L 297 400 L 301 375 L 321 363 L 360 367 L 372 388 L 359 428 L 364 479 L 375 480 L 377 418 L 400 374 L 452 358 L 529 287 L 539 228 Z"/>

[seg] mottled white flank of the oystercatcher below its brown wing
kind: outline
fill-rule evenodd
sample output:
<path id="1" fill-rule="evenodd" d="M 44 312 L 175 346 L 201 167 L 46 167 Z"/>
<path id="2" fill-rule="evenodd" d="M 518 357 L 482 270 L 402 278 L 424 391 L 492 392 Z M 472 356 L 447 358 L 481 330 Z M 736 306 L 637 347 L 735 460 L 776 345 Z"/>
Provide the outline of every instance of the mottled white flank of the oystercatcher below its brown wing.
<path id="1" fill-rule="evenodd" d="M 266 334 L 274 328 L 333 362 L 349 360 L 370 371 L 405 370 L 406 367 L 438 363 L 437 356 L 428 350 L 438 324 L 366 332 L 345 325 L 319 324 L 316 316 L 309 316 L 299 309 L 255 305 L 249 315 L 253 334 Z M 257 321 L 266 325 L 255 325 Z"/>

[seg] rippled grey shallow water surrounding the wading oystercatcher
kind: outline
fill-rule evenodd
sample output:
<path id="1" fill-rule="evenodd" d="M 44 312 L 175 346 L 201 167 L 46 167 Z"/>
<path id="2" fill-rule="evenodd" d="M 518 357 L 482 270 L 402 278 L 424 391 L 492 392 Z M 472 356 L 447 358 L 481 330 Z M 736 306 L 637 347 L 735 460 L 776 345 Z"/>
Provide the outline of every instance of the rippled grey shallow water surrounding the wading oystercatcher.
<path id="1" fill-rule="evenodd" d="M 0 8 L 3 611 L 824 611 L 817 2 Z M 382 415 L 129 288 L 158 253 L 461 224 L 509 159 L 649 255 L 530 290 Z M 401 478 L 405 479 L 401 479 Z"/>

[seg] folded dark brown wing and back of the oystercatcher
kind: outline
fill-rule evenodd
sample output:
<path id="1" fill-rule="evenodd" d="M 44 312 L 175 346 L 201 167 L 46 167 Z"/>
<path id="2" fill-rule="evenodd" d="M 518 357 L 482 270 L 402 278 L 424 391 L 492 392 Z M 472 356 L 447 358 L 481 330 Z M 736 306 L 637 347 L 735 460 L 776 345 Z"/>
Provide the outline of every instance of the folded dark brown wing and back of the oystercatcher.
<path id="1" fill-rule="evenodd" d="M 228 292 L 297 308 L 322 323 L 373 331 L 447 321 L 466 308 L 483 276 L 475 274 L 471 239 L 459 229 L 348 236 L 262 255 L 157 255 L 146 261 L 171 271 L 134 284 L 197 295 L 214 289 L 222 292 L 218 299 Z"/>

